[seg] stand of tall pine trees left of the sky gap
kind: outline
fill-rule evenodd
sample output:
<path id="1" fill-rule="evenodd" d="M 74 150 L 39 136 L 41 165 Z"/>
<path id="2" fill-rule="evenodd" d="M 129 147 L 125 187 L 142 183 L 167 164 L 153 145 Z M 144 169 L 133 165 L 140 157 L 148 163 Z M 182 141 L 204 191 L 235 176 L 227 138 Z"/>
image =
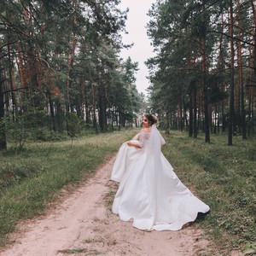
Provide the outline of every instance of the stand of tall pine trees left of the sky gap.
<path id="1" fill-rule="evenodd" d="M 10 137 L 106 132 L 134 120 L 137 62 L 122 60 L 119 0 L 0 2 L 0 149 Z M 40 130 L 41 129 L 41 130 Z"/>

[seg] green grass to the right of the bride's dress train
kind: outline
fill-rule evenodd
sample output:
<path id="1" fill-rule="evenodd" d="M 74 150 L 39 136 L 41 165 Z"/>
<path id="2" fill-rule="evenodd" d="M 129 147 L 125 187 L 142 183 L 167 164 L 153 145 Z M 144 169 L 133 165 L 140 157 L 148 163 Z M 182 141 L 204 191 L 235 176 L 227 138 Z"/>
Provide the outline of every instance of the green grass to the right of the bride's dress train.
<path id="1" fill-rule="evenodd" d="M 226 135 L 190 138 L 185 133 L 166 135 L 163 153 L 177 176 L 211 208 L 197 223 L 219 250 L 229 253 L 256 241 L 256 141 Z M 213 254 L 212 254 L 213 255 Z M 219 255 L 219 254 L 218 254 Z M 221 254 L 223 255 L 223 254 Z"/>

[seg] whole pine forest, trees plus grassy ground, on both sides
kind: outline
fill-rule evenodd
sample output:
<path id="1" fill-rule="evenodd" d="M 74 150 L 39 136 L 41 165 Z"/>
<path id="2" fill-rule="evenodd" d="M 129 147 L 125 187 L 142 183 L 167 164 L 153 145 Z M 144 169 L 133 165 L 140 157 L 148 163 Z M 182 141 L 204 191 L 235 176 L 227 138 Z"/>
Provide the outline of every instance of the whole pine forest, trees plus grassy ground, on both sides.
<path id="1" fill-rule="evenodd" d="M 167 160 L 211 207 L 194 227 L 212 251 L 196 255 L 255 255 L 256 2 L 156 0 L 148 95 L 120 55 L 120 2 L 0 0 L 0 247 L 154 113 Z"/>

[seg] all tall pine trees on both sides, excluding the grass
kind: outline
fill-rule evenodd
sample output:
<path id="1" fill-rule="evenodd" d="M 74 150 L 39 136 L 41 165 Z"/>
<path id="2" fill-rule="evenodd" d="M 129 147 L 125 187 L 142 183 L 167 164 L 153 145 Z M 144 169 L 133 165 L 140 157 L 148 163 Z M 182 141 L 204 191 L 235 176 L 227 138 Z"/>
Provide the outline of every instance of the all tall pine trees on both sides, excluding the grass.
<path id="1" fill-rule="evenodd" d="M 148 99 L 138 63 L 123 60 L 119 1 L 2 1 L 0 148 L 26 139 L 74 137 L 141 125 L 253 137 L 256 13 L 253 0 L 156 1 L 148 11 Z"/>

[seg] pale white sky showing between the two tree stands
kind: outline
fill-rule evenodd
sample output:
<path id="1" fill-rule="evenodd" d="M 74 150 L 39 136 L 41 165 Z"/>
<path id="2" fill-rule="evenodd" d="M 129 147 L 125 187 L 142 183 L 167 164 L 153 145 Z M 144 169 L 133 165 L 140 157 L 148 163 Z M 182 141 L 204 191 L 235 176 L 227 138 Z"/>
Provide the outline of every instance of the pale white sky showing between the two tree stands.
<path id="1" fill-rule="evenodd" d="M 148 9 L 155 0 L 122 0 L 119 9 L 129 8 L 125 29 L 128 34 L 122 34 L 124 44 L 134 44 L 131 49 L 122 49 L 120 55 L 126 59 L 131 57 L 131 61 L 138 62 L 139 71 L 136 73 L 137 90 L 147 95 L 148 87 L 148 68 L 144 61 L 154 56 L 153 47 L 147 36 L 147 23 L 149 21 Z"/>

